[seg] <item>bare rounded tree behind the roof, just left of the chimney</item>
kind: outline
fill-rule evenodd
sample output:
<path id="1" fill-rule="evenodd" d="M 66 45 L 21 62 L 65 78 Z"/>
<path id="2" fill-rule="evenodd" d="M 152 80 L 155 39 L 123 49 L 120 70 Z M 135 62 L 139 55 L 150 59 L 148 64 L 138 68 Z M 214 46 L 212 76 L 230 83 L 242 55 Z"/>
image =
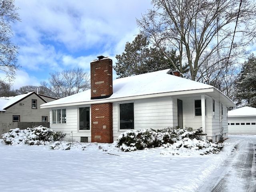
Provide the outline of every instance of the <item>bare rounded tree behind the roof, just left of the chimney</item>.
<path id="1" fill-rule="evenodd" d="M 90 76 L 82 68 L 50 73 L 49 83 L 41 82 L 52 96 L 63 98 L 90 88 Z"/>

